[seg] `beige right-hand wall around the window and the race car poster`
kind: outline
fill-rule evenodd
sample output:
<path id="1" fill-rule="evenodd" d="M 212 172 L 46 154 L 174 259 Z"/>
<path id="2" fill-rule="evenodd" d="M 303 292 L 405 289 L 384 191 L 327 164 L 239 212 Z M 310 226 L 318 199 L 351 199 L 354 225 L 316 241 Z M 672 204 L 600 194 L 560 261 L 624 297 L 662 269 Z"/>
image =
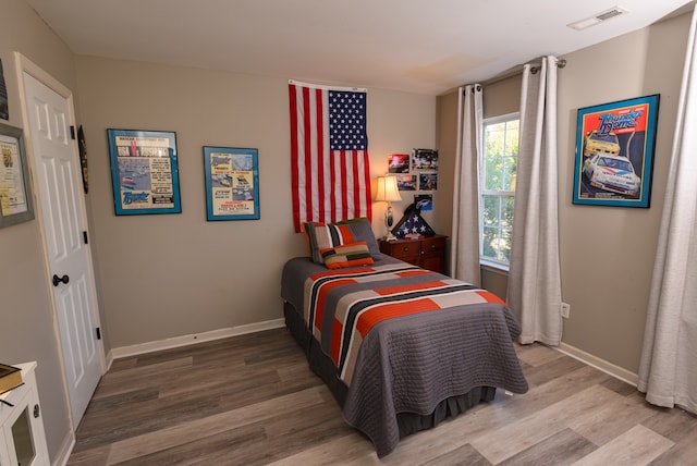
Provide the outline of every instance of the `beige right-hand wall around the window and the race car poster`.
<path id="1" fill-rule="evenodd" d="M 688 30 L 689 14 L 668 20 L 570 53 L 564 57 L 566 68 L 558 74 L 562 296 L 571 304 L 563 342 L 634 373 L 641 352 Z M 485 116 L 515 111 L 508 105 L 519 99 L 519 91 L 515 96 L 511 84 L 506 79 L 486 86 Z M 650 94 L 661 95 L 651 207 L 573 205 L 578 108 Z M 456 118 L 453 101 L 456 93 L 438 98 L 438 144 L 445 155 L 451 154 L 456 135 L 448 122 Z M 441 185 L 451 186 L 445 181 Z M 505 290 L 500 275 L 484 273 L 482 282 L 499 292 Z"/>

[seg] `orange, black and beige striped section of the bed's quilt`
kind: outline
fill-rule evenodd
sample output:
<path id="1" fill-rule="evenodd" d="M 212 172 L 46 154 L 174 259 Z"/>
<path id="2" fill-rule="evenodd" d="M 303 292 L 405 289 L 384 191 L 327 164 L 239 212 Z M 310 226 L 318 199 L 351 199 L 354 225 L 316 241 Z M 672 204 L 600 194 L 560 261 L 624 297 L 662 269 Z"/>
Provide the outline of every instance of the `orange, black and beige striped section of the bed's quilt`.
<path id="1" fill-rule="evenodd" d="M 490 292 L 407 263 L 315 273 L 305 281 L 304 301 L 305 322 L 346 385 L 376 324 L 466 304 L 504 304 Z"/>

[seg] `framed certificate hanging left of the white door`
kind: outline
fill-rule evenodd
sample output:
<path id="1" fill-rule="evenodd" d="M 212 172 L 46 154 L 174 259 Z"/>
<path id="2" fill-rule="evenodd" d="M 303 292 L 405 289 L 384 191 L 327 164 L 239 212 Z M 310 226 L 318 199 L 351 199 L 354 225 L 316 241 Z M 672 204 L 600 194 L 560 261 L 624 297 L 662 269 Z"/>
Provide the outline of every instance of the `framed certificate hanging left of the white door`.
<path id="1" fill-rule="evenodd" d="M 0 123 L 0 228 L 34 219 L 22 130 Z"/>

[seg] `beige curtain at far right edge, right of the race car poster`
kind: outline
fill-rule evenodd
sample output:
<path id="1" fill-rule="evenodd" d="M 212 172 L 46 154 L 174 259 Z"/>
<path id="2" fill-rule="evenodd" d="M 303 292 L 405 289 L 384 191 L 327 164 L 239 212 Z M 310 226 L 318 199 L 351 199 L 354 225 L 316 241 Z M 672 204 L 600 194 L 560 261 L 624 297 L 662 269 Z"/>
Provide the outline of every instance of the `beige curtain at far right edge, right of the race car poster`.
<path id="1" fill-rule="evenodd" d="M 697 10 L 693 12 L 639 365 L 649 403 L 697 414 Z"/>

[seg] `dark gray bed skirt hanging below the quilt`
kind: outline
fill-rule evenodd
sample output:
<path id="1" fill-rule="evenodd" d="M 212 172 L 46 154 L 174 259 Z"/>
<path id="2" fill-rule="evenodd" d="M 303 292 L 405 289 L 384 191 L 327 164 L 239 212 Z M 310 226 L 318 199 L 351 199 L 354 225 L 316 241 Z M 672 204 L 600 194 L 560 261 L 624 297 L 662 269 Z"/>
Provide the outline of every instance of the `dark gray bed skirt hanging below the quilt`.
<path id="1" fill-rule="evenodd" d="M 332 395 L 343 408 L 348 388 L 337 376 L 337 367 L 329 356 L 322 351 L 313 335 L 305 327 L 303 316 L 295 310 L 292 304 L 283 305 L 285 327 L 305 352 L 310 369 L 327 384 Z M 398 413 L 398 426 L 400 438 L 404 438 L 419 430 L 430 429 L 448 417 L 457 416 L 480 402 L 489 402 L 496 395 L 496 388 L 477 387 L 458 396 L 451 396 L 440 402 L 432 413 L 419 415 L 416 413 Z"/>

